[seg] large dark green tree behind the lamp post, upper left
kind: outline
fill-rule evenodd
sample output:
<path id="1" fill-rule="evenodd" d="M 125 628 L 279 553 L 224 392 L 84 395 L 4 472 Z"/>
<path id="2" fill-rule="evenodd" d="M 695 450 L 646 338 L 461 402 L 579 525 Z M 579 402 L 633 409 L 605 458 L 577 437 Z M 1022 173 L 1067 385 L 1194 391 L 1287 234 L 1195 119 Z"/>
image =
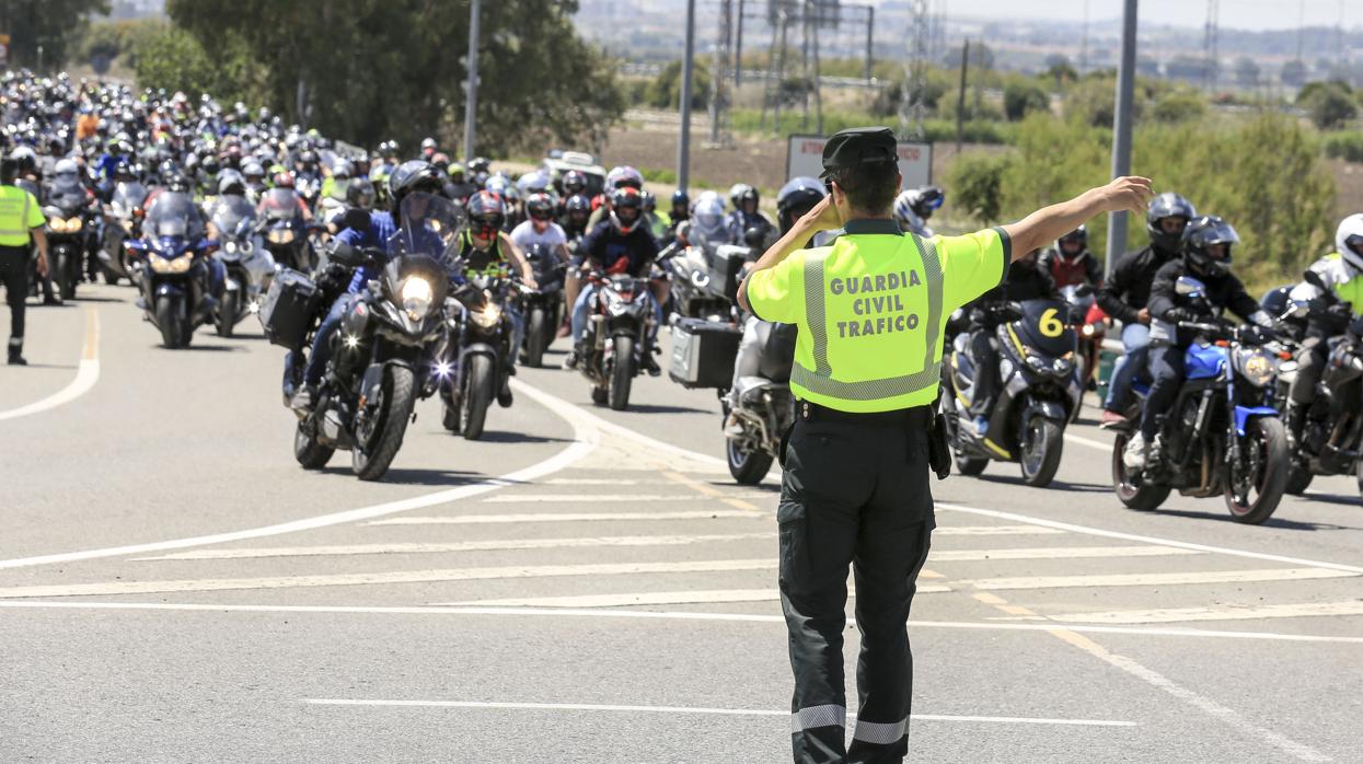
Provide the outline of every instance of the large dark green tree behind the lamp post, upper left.
<path id="1" fill-rule="evenodd" d="M 234 75 L 288 120 L 360 144 L 455 135 L 470 0 L 168 0 L 204 49 L 240 41 Z M 571 0 L 483 3 L 478 153 L 597 146 L 624 113 L 616 67 L 572 29 Z"/>

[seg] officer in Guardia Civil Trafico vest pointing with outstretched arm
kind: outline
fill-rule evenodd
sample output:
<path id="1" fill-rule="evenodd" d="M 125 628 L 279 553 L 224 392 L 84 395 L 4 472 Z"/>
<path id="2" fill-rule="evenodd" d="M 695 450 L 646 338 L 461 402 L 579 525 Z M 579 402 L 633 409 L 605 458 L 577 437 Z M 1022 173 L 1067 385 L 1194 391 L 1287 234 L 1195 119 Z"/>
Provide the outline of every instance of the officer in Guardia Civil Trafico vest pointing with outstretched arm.
<path id="1" fill-rule="evenodd" d="M 795 761 L 901 761 L 913 659 L 906 621 L 935 527 L 928 459 L 953 311 L 1026 255 L 1105 211 L 1145 210 L 1150 181 L 1118 178 L 1009 226 L 969 236 L 902 234 L 891 206 L 902 178 L 887 128 L 838 132 L 823 148 L 829 196 L 754 267 L 739 301 L 799 327 L 791 389 L 797 417 L 782 448 L 781 609 L 789 631 Z M 801 249 L 821 230 L 830 246 Z M 935 432 L 935 430 L 934 430 Z M 939 471 L 939 474 L 942 474 Z M 845 745 L 842 629 L 856 576 L 859 710 Z"/>

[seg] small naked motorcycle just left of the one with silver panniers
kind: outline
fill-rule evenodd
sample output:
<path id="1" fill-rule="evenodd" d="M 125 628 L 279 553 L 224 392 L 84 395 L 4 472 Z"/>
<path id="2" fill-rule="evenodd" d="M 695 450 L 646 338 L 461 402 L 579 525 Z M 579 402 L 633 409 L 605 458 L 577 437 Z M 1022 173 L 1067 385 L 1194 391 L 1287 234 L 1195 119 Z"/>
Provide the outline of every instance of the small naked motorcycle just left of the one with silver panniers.
<path id="1" fill-rule="evenodd" d="M 649 279 L 627 274 L 590 274 L 598 285 L 583 336 L 582 376 L 592 383 L 592 402 L 624 411 L 639 376 L 641 353 L 654 321 Z"/>

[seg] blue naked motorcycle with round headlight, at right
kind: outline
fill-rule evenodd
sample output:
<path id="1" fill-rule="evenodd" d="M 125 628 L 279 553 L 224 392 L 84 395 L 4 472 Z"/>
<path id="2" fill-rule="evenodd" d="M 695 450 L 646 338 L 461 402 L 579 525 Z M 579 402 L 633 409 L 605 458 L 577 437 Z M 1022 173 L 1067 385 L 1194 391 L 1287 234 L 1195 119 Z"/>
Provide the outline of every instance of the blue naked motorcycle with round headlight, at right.
<path id="1" fill-rule="evenodd" d="M 1214 316 L 1202 282 L 1182 276 L 1175 290 Z M 1272 406 L 1280 358 L 1247 345 L 1246 328 L 1220 319 L 1179 321 L 1178 328 L 1198 334 L 1183 355 L 1183 387 L 1139 473 L 1122 459 L 1139 413 L 1111 426 L 1118 433 L 1112 488 L 1122 504 L 1142 511 L 1157 508 L 1174 489 L 1198 498 L 1221 493 L 1232 519 L 1264 523 L 1283 498 L 1291 466 L 1287 429 Z M 1148 388 L 1137 384 L 1135 392 L 1144 403 Z"/>

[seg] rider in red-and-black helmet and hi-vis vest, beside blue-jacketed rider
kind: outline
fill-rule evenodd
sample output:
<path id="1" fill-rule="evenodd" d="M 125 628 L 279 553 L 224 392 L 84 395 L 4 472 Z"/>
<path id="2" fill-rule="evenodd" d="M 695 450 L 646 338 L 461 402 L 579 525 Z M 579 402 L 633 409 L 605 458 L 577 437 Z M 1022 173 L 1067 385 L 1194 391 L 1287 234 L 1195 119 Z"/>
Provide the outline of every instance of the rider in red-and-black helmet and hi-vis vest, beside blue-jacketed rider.
<path id="1" fill-rule="evenodd" d="M 544 196 L 542 207 L 545 221 L 553 215 L 553 203 L 548 195 Z M 502 230 L 506 225 L 506 203 L 491 191 L 480 191 L 469 197 L 469 229 L 463 232 L 459 260 L 463 263 L 465 276 L 489 275 L 507 278 L 511 268 L 521 274 L 521 283 L 530 289 L 538 285 L 534 281 L 534 271 L 529 260 L 521 253 L 511 236 Z M 532 225 L 526 221 L 522 225 Z M 549 225 L 553 225 L 552 222 Z M 511 351 L 506 357 L 507 379 L 497 391 L 497 404 L 503 409 L 511 406 L 510 375 L 515 373 L 515 360 L 525 340 L 525 319 L 521 316 L 521 306 L 517 300 L 507 300 L 502 306 L 507 319 L 511 320 Z"/>

